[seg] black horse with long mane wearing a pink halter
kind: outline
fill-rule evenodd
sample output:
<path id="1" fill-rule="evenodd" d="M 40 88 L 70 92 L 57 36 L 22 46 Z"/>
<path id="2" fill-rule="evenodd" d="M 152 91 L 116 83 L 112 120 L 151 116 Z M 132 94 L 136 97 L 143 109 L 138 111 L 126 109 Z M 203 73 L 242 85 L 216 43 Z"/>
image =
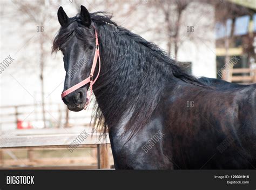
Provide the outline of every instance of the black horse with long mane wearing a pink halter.
<path id="1" fill-rule="evenodd" d="M 256 167 L 255 84 L 231 90 L 205 85 L 104 12 L 81 6 L 69 18 L 60 7 L 58 20 L 53 51 L 63 52 L 64 90 L 89 76 L 95 30 L 99 34 L 94 127 L 109 132 L 116 168 Z M 83 110 L 88 87 L 63 98 L 69 110 Z"/>

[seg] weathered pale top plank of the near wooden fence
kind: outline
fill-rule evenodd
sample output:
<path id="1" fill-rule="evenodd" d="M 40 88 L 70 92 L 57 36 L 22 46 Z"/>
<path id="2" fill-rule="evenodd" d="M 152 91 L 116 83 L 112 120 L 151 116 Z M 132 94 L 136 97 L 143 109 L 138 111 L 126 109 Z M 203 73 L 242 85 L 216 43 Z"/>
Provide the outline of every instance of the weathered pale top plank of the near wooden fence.
<path id="1" fill-rule="evenodd" d="M 36 147 L 36 146 L 69 146 L 74 140 L 78 140 L 79 134 L 48 134 L 48 135 L 21 135 L 2 137 L 1 148 Z M 80 137 L 80 136 L 79 136 Z M 89 133 L 86 139 L 79 140 L 80 145 L 110 144 L 109 137 L 99 139 L 99 134 Z"/>

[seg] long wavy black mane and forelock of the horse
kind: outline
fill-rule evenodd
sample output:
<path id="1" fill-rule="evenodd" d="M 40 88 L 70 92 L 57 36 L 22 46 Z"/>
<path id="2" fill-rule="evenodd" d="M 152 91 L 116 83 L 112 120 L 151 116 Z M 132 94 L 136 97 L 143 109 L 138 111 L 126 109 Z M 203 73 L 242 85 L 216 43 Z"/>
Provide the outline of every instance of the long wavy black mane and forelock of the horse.
<path id="1" fill-rule="evenodd" d="M 108 105 L 103 108 L 95 103 L 94 130 L 105 133 L 130 113 L 125 131 L 136 134 L 151 117 L 167 84 L 180 79 L 204 87 L 156 44 L 118 26 L 106 12 L 90 13 L 90 16 L 99 32 L 102 58 L 102 70 L 93 91 L 100 94 L 97 101 Z M 71 19 L 71 24 L 60 29 L 53 40 L 53 51 L 58 50 L 74 31 L 86 41 L 88 36 L 79 14 Z M 109 64 L 105 66 L 106 63 Z"/>

